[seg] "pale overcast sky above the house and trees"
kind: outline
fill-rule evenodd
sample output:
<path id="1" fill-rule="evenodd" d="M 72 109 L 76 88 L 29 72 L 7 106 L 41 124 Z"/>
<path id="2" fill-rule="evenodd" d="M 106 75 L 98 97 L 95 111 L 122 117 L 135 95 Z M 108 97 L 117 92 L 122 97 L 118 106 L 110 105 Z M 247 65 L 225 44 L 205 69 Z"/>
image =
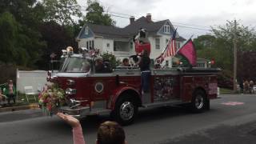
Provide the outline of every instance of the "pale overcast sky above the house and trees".
<path id="1" fill-rule="evenodd" d="M 152 14 L 154 21 L 169 19 L 174 27 L 178 26 L 178 33 L 185 38 L 189 38 L 192 34 L 196 38 L 197 35 L 210 33 L 207 30 L 210 26 L 224 25 L 226 20 L 234 20 L 234 18 L 244 26 L 256 26 L 256 0 L 98 0 L 98 2 L 109 11 L 109 14 L 126 17 L 111 16 L 119 27 L 129 24 L 129 15 L 134 15 L 137 19 Z M 86 0 L 78 0 L 78 3 L 82 9 L 86 9 Z"/>

